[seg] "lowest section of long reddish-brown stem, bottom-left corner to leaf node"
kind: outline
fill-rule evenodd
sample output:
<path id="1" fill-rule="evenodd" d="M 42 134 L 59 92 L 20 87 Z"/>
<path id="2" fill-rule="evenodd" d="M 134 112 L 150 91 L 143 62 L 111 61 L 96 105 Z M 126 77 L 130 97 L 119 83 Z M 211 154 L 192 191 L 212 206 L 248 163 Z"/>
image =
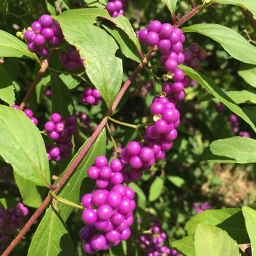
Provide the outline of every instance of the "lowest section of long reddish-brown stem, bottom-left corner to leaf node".
<path id="1" fill-rule="evenodd" d="M 22 228 L 22 230 L 20 231 L 18 236 L 16 236 L 13 239 L 13 241 L 11 241 L 11 244 L 9 245 L 9 247 L 7 247 L 7 249 L 3 252 L 3 254 L 1 256 L 7 256 L 11 253 L 11 251 L 13 251 L 13 249 L 16 247 L 16 245 L 18 245 L 18 243 L 22 240 L 22 237 L 25 236 L 26 232 L 28 232 L 28 230 L 30 230 L 30 227 L 32 226 L 32 224 L 34 224 L 34 222 L 42 214 L 44 209 L 49 205 L 49 203 L 51 203 L 52 199 L 53 199 L 53 197 L 51 195 L 48 195 L 46 197 L 46 199 L 44 199 L 44 201 L 38 207 L 36 212 L 34 212 L 34 214 L 31 216 L 31 218 L 28 220 L 28 222 Z"/>

